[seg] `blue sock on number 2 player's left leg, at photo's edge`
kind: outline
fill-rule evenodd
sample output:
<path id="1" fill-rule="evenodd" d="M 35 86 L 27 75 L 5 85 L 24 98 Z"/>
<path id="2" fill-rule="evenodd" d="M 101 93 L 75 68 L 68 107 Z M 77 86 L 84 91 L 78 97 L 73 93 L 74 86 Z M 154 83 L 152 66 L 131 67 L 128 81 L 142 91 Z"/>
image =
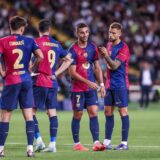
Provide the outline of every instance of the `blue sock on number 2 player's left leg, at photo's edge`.
<path id="1" fill-rule="evenodd" d="M 9 123 L 0 122 L 0 146 L 4 146 L 6 138 L 8 136 L 8 131 L 9 131 Z"/>

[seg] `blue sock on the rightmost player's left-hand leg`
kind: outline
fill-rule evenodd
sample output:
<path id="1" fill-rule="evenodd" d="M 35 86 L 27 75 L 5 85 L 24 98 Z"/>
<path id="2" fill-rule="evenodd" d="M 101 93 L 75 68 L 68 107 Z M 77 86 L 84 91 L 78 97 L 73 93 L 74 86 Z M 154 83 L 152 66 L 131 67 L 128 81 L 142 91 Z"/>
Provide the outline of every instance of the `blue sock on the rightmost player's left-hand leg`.
<path id="1" fill-rule="evenodd" d="M 106 116 L 105 139 L 111 140 L 113 128 L 114 128 L 114 115 Z"/>

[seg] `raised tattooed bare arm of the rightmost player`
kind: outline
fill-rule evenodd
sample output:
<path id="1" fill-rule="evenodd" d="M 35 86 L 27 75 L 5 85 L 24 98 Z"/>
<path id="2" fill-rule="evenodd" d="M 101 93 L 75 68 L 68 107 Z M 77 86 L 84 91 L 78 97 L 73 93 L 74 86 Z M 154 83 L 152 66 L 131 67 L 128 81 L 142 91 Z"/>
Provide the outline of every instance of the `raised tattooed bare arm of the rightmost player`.
<path id="1" fill-rule="evenodd" d="M 115 60 L 113 61 L 109 54 L 108 54 L 108 51 L 105 47 L 99 47 L 99 53 L 105 58 L 105 60 L 107 61 L 109 67 L 112 69 L 112 70 L 116 70 L 120 65 L 121 65 L 121 62 L 118 61 L 118 60 Z"/>

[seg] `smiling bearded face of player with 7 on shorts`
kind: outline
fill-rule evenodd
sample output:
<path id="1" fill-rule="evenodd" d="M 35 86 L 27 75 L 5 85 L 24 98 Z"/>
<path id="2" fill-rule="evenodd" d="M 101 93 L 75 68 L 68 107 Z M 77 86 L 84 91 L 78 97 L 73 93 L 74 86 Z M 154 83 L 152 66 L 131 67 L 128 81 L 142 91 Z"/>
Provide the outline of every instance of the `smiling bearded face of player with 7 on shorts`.
<path id="1" fill-rule="evenodd" d="M 77 30 L 77 37 L 79 41 L 87 42 L 89 37 L 89 28 L 88 27 L 79 28 Z"/>

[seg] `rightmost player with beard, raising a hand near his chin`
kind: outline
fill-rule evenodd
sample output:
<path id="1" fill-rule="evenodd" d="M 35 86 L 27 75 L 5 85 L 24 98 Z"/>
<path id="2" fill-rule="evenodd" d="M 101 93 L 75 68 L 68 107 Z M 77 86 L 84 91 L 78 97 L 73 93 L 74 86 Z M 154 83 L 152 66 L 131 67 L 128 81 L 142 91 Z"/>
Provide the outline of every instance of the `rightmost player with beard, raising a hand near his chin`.
<path id="1" fill-rule="evenodd" d="M 111 136 L 114 128 L 114 106 L 118 106 L 122 120 L 122 142 L 115 150 L 128 150 L 128 64 L 130 52 L 127 44 L 121 41 L 122 26 L 114 22 L 109 27 L 109 43 L 99 47 L 100 54 L 107 62 L 107 80 L 105 96 L 105 139 L 106 149 L 111 149 Z"/>

